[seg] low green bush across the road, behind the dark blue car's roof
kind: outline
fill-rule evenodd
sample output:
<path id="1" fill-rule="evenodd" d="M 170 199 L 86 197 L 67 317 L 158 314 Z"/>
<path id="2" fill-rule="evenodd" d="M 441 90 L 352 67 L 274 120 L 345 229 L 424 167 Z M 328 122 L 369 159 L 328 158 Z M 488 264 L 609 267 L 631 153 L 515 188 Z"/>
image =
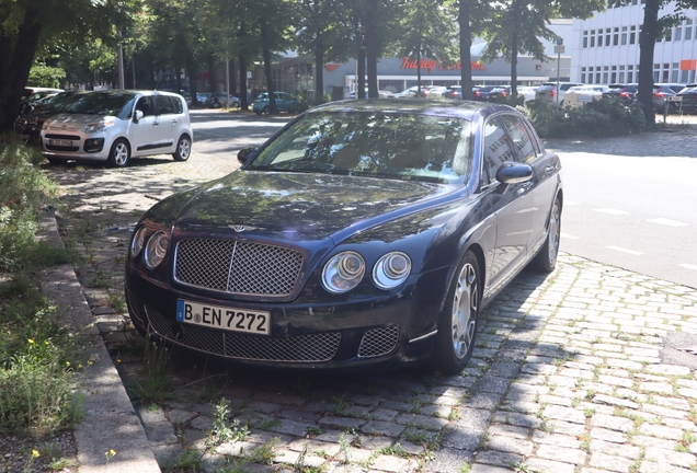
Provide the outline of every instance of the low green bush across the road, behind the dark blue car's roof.
<path id="1" fill-rule="evenodd" d="M 542 138 L 620 136 L 647 128 L 640 104 L 627 105 L 614 97 L 602 97 L 584 107 L 563 109 L 547 102 L 528 101 L 518 109 L 528 116 Z"/>

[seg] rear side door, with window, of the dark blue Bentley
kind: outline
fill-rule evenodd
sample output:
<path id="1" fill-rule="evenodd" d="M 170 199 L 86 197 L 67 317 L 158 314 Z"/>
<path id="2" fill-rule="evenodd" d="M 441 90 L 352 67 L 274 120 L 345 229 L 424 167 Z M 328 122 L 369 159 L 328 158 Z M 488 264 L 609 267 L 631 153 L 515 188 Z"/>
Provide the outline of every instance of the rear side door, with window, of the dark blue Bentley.
<path id="1" fill-rule="evenodd" d="M 525 183 L 526 198 L 530 203 L 530 232 L 526 245 L 536 250 L 546 236 L 547 218 L 557 189 L 555 176 L 559 172 L 559 157 L 542 152 L 537 134 L 525 118 L 510 114 L 502 115 L 501 120 L 517 152 L 516 161 L 533 168 L 533 178 Z"/>

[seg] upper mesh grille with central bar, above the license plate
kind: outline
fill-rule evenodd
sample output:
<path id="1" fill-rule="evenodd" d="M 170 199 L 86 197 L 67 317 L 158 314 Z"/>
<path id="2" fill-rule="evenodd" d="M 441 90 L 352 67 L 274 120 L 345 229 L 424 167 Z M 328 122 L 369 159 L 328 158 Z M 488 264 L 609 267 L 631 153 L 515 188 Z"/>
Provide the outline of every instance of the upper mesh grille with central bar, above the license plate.
<path id="1" fill-rule="evenodd" d="M 302 267 L 290 249 L 222 239 L 186 239 L 176 245 L 174 278 L 238 295 L 288 296 Z"/>

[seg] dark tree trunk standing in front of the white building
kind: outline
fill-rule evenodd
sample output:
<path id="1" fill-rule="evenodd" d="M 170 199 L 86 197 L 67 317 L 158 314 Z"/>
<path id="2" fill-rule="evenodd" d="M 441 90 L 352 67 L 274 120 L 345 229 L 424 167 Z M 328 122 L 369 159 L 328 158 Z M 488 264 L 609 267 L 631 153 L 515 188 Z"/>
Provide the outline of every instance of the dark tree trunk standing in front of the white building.
<path id="1" fill-rule="evenodd" d="M 643 24 L 639 33 L 639 90 L 637 96 L 641 102 L 647 124 L 655 124 L 653 111 L 653 48 L 659 28 L 660 0 L 647 0 L 643 8 Z"/>

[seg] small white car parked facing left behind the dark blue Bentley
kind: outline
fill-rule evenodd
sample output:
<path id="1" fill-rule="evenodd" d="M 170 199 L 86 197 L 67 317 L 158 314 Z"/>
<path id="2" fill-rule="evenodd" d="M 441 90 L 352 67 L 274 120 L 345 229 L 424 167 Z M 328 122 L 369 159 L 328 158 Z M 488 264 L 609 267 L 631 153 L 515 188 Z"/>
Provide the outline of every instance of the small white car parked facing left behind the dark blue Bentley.
<path id="1" fill-rule="evenodd" d="M 53 164 L 104 161 L 123 168 L 130 158 L 152 154 L 186 161 L 193 139 L 186 101 L 162 91 L 90 92 L 41 130 L 42 154 Z"/>

